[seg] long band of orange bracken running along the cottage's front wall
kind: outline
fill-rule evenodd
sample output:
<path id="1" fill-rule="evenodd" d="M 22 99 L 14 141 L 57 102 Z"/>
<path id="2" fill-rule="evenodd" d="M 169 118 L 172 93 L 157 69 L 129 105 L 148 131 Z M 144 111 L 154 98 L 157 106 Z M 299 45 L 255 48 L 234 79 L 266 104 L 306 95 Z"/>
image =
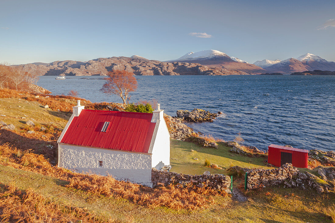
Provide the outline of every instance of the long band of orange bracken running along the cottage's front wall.
<path id="1" fill-rule="evenodd" d="M 107 197 L 123 198 L 150 208 L 158 206 L 176 210 L 206 208 L 214 203 L 214 199 L 208 195 L 219 194 L 217 191 L 197 188 L 192 184 L 186 187 L 169 185 L 168 187 L 158 186 L 151 189 L 130 182 L 118 181 L 111 176 L 74 173 L 64 168 L 52 166 L 41 154 L 25 151 L 22 156 L 18 157 L 16 155 L 18 149 L 8 144 L 1 145 L 0 151 L 2 151 L 0 154 L 0 164 L 2 165 L 57 177 L 70 182 L 66 187 Z M 226 196 L 227 194 L 222 192 L 220 195 Z"/>

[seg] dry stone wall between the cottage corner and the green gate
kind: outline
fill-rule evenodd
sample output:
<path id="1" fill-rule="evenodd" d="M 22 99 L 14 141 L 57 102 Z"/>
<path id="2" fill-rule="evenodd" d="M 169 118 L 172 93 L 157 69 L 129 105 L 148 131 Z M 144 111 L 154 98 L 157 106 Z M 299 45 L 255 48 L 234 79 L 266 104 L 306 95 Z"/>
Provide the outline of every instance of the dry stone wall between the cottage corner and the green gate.
<path id="1" fill-rule="evenodd" d="M 165 186 L 170 183 L 186 185 L 192 183 L 197 187 L 209 187 L 214 190 L 224 190 L 230 193 L 230 177 L 223 174 L 210 174 L 209 171 L 205 171 L 202 175 L 187 175 L 176 172 L 167 172 L 163 170 L 151 170 L 151 181 L 153 187 L 158 183 L 163 183 Z"/>

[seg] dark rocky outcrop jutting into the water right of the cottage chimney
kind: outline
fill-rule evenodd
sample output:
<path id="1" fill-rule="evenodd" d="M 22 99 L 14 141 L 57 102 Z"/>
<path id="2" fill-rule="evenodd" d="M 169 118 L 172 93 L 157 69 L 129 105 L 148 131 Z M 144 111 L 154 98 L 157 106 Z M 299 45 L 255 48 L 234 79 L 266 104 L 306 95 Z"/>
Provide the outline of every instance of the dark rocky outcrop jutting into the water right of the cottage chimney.
<path id="1" fill-rule="evenodd" d="M 209 111 L 205 111 L 202 109 L 193 109 L 192 111 L 188 110 L 178 110 L 177 117 L 181 118 L 182 120 L 189 121 L 189 122 L 213 122 L 218 114 L 210 113 Z"/>

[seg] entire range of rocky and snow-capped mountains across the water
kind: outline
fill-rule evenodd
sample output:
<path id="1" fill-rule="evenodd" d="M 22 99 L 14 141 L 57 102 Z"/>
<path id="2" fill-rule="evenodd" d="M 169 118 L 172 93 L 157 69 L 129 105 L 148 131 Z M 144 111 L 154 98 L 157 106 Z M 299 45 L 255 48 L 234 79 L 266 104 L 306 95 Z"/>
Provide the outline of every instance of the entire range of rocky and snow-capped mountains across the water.
<path id="1" fill-rule="evenodd" d="M 85 62 L 54 61 L 52 63 L 30 63 L 13 65 L 36 75 L 107 75 L 111 70 L 121 69 L 135 75 L 245 75 L 261 73 L 291 74 L 313 70 L 335 71 L 335 63 L 307 53 L 286 60 L 259 60 L 249 64 L 217 50 L 189 52 L 169 61 L 148 60 L 131 57 L 98 58 Z"/>

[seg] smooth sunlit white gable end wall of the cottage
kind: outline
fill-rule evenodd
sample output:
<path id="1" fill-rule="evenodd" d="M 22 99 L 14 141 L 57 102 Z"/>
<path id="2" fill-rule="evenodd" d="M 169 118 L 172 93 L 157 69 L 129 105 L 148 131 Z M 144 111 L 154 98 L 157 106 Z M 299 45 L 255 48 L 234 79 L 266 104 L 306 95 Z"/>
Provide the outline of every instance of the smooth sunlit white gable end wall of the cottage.
<path id="1" fill-rule="evenodd" d="M 151 165 L 160 170 L 170 165 L 170 134 L 164 119 L 158 121 L 158 130 L 152 148 Z"/>

